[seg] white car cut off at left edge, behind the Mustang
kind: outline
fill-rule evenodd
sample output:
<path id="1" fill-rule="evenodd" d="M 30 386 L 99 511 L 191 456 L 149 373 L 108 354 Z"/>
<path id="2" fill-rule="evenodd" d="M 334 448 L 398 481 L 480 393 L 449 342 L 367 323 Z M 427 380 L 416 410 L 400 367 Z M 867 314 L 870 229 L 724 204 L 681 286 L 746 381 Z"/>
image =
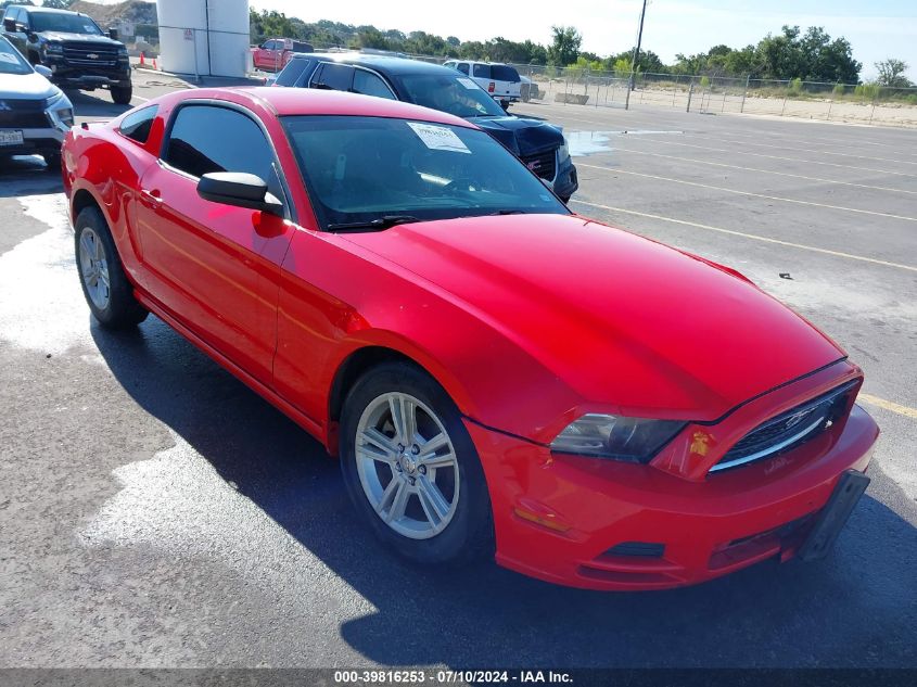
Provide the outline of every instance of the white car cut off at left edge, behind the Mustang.
<path id="1" fill-rule="evenodd" d="M 48 67 L 33 67 L 0 36 L 0 157 L 41 155 L 61 169 L 61 143 L 73 126 L 73 104 L 46 77 Z"/>

